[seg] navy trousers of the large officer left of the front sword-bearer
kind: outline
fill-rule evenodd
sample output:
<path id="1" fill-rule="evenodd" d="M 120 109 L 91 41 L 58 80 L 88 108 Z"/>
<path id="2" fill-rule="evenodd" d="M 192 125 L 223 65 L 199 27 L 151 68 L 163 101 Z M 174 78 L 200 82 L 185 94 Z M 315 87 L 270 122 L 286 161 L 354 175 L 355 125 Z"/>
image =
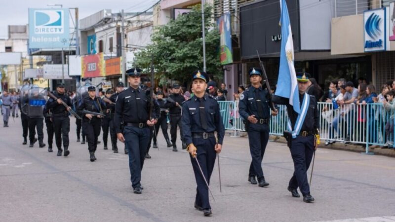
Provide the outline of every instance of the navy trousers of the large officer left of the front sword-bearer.
<path id="1" fill-rule="evenodd" d="M 150 139 L 149 127 L 125 126 L 123 129 L 125 148 L 129 151 L 129 170 L 132 187 L 140 186 L 141 170 Z"/>

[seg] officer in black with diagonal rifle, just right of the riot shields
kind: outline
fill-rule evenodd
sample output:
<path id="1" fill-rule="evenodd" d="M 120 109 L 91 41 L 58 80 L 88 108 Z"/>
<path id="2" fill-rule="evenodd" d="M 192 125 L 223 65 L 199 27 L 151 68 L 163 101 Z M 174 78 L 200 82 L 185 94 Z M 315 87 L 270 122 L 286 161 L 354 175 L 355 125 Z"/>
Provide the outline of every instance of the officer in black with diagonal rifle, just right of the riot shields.
<path id="1" fill-rule="evenodd" d="M 64 156 L 68 156 L 70 154 L 69 150 L 69 132 L 70 132 L 70 118 L 69 111 L 72 106 L 71 99 L 65 93 L 65 83 L 60 82 L 56 86 L 56 93 L 54 94 L 57 100 L 53 98 L 49 98 L 46 103 L 46 109 L 52 110 L 52 121 L 53 121 L 53 129 L 55 132 L 55 142 L 56 147 L 58 148 L 57 156 L 62 155 L 62 141 L 64 148 Z M 62 101 L 69 106 L 66 108 L 63 106 Z M 49 151 L 49 150 L 48 150 Z"/>

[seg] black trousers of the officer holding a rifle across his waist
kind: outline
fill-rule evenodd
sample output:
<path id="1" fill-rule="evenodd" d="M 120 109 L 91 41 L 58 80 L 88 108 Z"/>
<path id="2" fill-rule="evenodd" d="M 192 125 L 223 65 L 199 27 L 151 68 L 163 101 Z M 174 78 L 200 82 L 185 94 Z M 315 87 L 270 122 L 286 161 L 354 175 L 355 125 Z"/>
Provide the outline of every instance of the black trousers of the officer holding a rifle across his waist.
<path id="1" fill-rule="evenodd" d="M 97 138 L 100 135 L 100 128 L 102 125 L 102 119 L 93 116 L 92 119 L 86 119 L 82 121 L 82 128 L 85 130 L 86 141 L 88 142 L 89 152 L 96 151 Z"/>

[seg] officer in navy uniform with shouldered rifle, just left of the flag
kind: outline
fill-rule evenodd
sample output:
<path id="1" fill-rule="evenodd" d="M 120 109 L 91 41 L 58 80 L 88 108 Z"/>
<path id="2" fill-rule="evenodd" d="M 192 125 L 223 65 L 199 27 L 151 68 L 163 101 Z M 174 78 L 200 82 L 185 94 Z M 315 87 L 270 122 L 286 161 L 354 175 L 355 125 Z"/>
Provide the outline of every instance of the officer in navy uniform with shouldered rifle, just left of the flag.
<path id="1" fill-rule="evenodd" d="M 262 170 L 262 159 L 269 140 L 269 121 L 271 98 L 268 90 L 262 87 L 262 70 L 252 68 L 248 71 L 251 86 L 241 95 L 238 109 L 245 120 L 245 129 L 248 132 L 248 141 L 252 157 L 248 181 L 261 187 L 268 186 Z M 276 115 L 274 112 L 273 114 Z"/>

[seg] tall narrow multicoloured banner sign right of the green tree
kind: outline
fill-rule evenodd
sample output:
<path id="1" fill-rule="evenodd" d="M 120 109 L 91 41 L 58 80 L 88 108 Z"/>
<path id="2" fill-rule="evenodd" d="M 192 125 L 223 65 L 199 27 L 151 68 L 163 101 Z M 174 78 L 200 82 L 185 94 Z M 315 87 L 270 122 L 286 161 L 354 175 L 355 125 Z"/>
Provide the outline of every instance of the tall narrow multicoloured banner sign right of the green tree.
<path id="1" fill-rule="evenodd" d="M 220 62 L 221 65 L 233 63 L 231 39 L 231 13 L 225 13 L 217 20 L 220 33 Z"/>

